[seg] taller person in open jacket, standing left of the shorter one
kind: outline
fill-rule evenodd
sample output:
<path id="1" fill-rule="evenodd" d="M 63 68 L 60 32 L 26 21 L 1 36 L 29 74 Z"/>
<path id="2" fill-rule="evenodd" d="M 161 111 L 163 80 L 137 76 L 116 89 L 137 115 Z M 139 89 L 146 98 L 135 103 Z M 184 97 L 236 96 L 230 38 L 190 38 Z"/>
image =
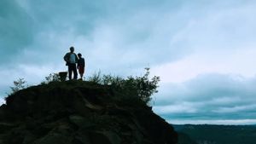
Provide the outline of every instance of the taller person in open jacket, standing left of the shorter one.
<path id="1" fill-rule="evenodd" d="M 70 52 L 64 56 L 64 60 L 67 62 L 66 66 L 68 66 L 68 78 L 69 80 L 72 79 L 72 72 L 73 72 L 73 79 L 78 78 L 77 66 L 79 58 L 74 52 L 74 48 L 70 47 Z"/>

